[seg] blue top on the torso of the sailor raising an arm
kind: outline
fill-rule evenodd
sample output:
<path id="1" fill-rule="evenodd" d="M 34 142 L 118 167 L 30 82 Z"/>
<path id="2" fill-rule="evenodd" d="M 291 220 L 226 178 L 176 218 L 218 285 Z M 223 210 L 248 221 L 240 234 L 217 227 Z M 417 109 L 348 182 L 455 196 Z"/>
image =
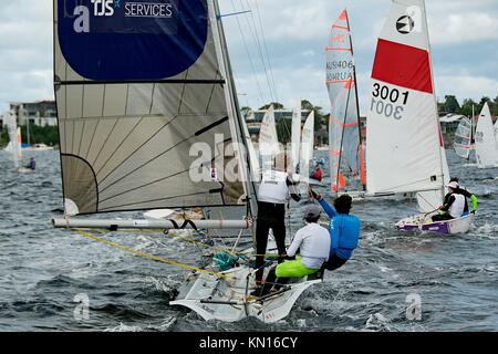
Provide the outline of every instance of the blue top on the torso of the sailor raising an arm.
<path id="1" fill-rule="evenodd" d="M 351 258 L 360 240 L 360 219 L 352 215 L 338 215 L 330 220 L 329 259 L 336 254 L 342 259 Z"/>

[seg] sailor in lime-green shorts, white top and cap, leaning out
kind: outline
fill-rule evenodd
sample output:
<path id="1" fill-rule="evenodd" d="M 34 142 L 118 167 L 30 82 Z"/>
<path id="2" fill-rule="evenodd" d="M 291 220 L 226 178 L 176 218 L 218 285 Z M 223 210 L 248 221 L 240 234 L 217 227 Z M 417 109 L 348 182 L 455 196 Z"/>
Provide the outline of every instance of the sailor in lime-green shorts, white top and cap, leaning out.
<path id="1" fill-rule="evenodd" d="M 262 296 L 271 291 L 278 278 L 278 284 L 283 284 L 288 278 L 301 278 L 320 270 L 329 258 L 329 230 L 318 225 L 321 209 L 317 205 L 309 205 L 304 211 L 308 225 L 298 230 L 292 243 L 287 250 L 288 260 L 272 268 L 261 290 L 257 289 L 252 295 Z M 298 250 L 300 256 L 295 256 Z M 294 258 L 289 260 L 289 258 Z M 278 285 L 276 287 L 278 288 Z"/>

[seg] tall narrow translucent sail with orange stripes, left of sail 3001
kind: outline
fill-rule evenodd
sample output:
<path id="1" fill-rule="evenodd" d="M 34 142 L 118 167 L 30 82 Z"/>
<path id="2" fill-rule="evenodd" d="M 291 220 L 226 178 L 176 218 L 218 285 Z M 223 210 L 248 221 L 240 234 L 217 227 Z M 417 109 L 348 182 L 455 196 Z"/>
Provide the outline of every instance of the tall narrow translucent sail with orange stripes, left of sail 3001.
<path id="1" fill-rule="evenodd" d="M 329 121 L 332 191 L 344 187 L 346 176 L 363 169 L 356 76 L 347 12 L 332 25 L 326 52 L 326 87 L 331 103 Z M 363 175 L 363 174 L 362 174 Z M 362 180 L 364 184 L 364 180 Z"/>

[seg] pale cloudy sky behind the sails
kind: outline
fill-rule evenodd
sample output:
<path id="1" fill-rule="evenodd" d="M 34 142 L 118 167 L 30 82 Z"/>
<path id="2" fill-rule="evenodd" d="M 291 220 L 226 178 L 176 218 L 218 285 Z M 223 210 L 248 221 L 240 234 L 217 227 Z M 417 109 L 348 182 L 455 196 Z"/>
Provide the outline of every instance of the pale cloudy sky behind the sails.
<path id="1" fill-rule="evenodd" d="M 252 108 L 272 100 L 291 107 L 302 97 L 328 111 L 323 48 L 331 23 L 347 8 L 364 113 L 376 38 L 390 0 L 219 3 L 224 14 L 251 10 L 225 17 L 224 25 L 240 103 Z M 498 96 L 498 0 L 426 0 L 426 8 L 437 96 L 455 94 L 460 103 Z M 2 0 L 0 111 L 11 101 L 53 98 L 52 65 L 52 0 Z"/>

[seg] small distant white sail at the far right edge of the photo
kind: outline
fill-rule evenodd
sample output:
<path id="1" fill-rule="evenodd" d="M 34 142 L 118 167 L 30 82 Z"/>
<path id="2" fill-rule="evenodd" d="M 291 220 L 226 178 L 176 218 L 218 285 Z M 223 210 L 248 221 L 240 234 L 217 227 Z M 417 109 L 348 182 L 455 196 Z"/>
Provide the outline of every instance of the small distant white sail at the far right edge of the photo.
<path id="1" fill-rule="evenodd" d="M 488 103 L 485 103 L 477 122 L 476 159 L 478 168 L 498 167 L 498 144 Z"/>

